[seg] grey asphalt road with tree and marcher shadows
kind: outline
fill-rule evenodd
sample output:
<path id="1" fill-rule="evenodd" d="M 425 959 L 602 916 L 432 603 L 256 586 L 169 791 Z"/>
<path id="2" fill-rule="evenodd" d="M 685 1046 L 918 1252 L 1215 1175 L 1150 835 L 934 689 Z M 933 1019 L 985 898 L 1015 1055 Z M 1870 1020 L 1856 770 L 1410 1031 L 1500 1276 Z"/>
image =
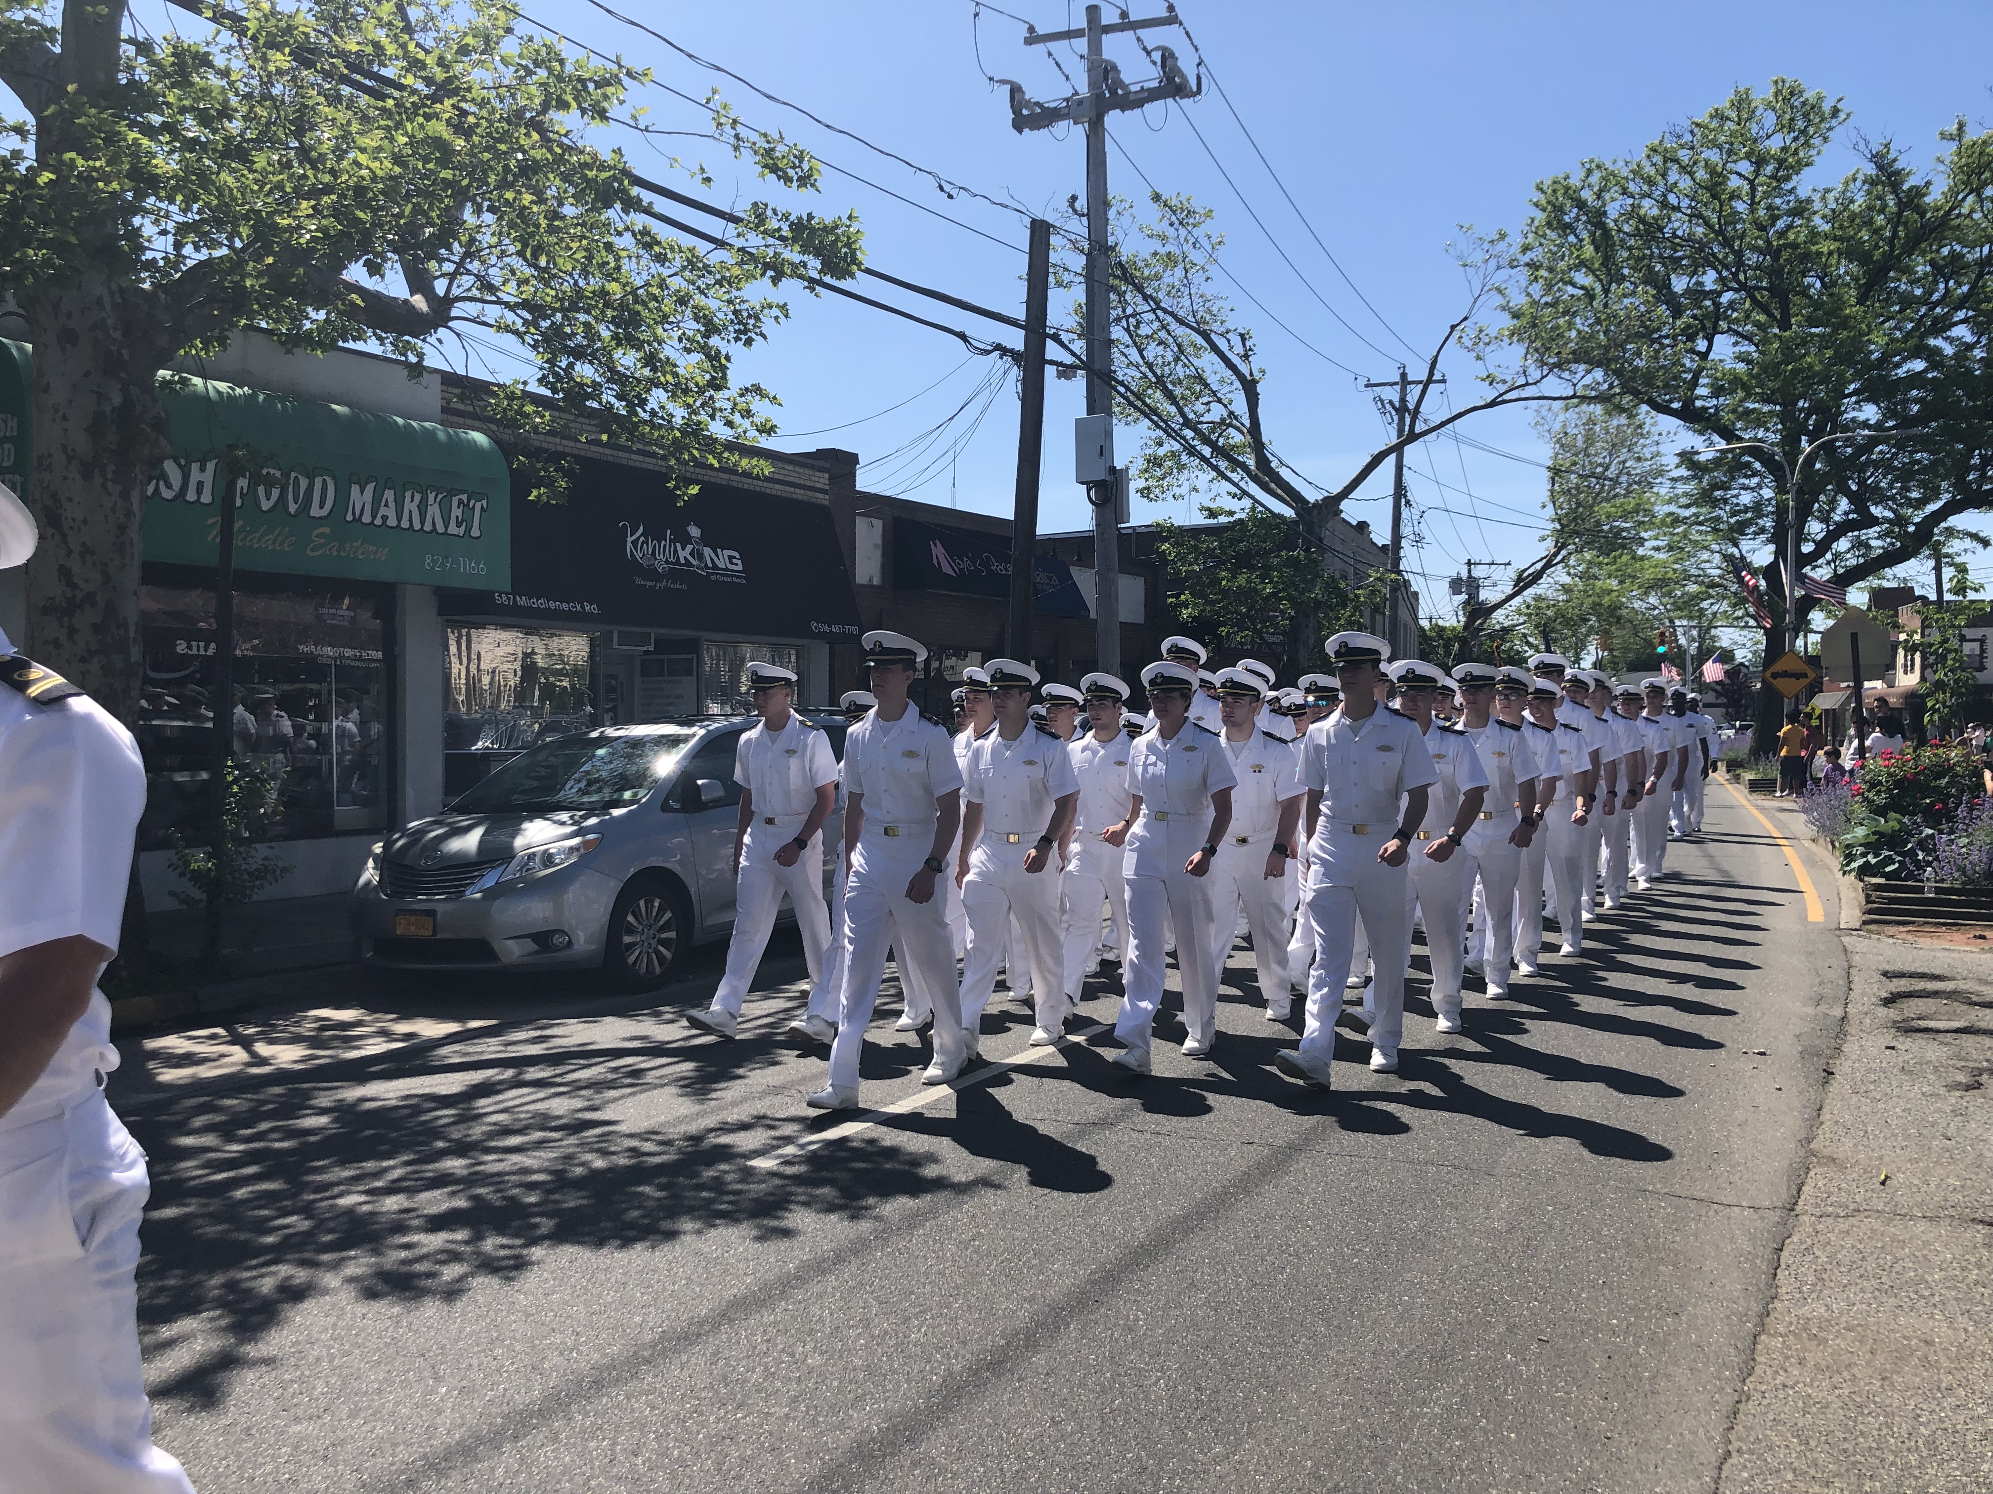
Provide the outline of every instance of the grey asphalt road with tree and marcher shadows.
<path id="1" fill-rule="evenodd" d="M 923 1106 L 883 1020 L 865 1100 L 911 1108 L 855 1129 L 783 990 L 731 1044 L 694 988 L 488 992 L 518 1020 L 151 1106 L 157 1436 L 209 1494 L 1712 1490 L 1844 972 L 1728 793 L 1668 863 L 1461 1036 L 1415 982 L 1401 1074 L 1345 1040 L 1333 1096 L 1238 950 L 1210 1060 Z M 985 1056 L 1028 1026 L 998 994 Z"/>

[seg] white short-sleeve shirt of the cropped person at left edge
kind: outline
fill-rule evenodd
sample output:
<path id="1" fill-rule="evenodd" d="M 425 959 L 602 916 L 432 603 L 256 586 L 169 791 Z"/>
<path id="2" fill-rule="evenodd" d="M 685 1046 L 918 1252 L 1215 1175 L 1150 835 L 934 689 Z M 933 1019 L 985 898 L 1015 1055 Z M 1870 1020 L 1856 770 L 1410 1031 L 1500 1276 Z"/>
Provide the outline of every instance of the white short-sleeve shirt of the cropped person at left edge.
<path id="1" fill-rule="evenodd" d="M 0 655 L 14 645 L 0 633 Z M 138 743 L 82 695 L 36 705 L 0 685 L 0 954 L 84 938 L 118 948 L 132 841 L 145 809 Z M 118 1068 L 104 992 L 0 1129 L 48 1120 Z"/>

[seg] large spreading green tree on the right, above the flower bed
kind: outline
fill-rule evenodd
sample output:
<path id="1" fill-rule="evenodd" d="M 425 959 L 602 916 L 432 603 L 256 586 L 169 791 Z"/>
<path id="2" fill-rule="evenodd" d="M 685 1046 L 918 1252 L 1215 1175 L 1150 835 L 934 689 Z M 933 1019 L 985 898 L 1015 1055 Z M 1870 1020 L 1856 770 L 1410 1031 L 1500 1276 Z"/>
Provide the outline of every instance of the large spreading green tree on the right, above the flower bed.
<path id="1" fill-rule="evenodd" d="M 1694 464 L 1680 508 L 1708 544 L 1770 556 L 1778 623 L 1812 610 L 1780 560 L 1788 524 L 1802 570 L 1853 586 L 1921 556 L 1993 478 L 1993 133 L 1943 131 L 1929 173 L 1853 135 L 1857 169 L 1822 181 L 1848 120 L 1778 78 L 1551 177 L 1505 289 L 1501 337 L 1533 365 L 1774 448 Z M 1788 514 L 1786 472 L 1842 432 L 1873 438 L 1822 446 Z"/>

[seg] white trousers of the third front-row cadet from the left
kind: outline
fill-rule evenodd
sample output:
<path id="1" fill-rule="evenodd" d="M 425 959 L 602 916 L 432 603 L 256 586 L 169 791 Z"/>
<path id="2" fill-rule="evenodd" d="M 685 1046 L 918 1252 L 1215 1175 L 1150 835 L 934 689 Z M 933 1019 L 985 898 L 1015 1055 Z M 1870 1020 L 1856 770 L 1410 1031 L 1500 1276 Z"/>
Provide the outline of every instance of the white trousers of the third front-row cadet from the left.
<path id="1" fill-rule="evenodd" d="M 1024 871 L 1028 841 L 1004 841 L 991 831 L 969 853 L 963 906 L 969 910 L 969 956 L 963 962 L 963 1028 L 975 1044 L 983 1008 L 996 990 L 996 962 L 1010 952 L 1010 988 L 1024 988 L 1030 970 L 1032 1010 L 1040 1028 L 1058 1030 L 1072 1010 L 1064 982 L 1064 940 L 1058 930 L 1058 859 L 1038 872 Z"/>

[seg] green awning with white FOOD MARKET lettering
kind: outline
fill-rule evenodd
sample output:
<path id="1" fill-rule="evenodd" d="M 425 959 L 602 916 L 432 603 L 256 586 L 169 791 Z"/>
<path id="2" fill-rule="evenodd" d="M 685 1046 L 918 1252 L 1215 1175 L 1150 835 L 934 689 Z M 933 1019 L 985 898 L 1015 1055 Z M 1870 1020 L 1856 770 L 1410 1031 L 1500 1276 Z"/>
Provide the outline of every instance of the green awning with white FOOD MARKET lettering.
<path id="1" fill-rule="evenodd" d="M 8 351 L 0 414 L 8 369 L 30 367 Z M 215 564 L 233 468 L 241 570 L 512 588 L 512 484 L 490 436 L 185 374 L 159 374 L 159 396 L 173 454 L 145 484 L 145 560 Z"/>

